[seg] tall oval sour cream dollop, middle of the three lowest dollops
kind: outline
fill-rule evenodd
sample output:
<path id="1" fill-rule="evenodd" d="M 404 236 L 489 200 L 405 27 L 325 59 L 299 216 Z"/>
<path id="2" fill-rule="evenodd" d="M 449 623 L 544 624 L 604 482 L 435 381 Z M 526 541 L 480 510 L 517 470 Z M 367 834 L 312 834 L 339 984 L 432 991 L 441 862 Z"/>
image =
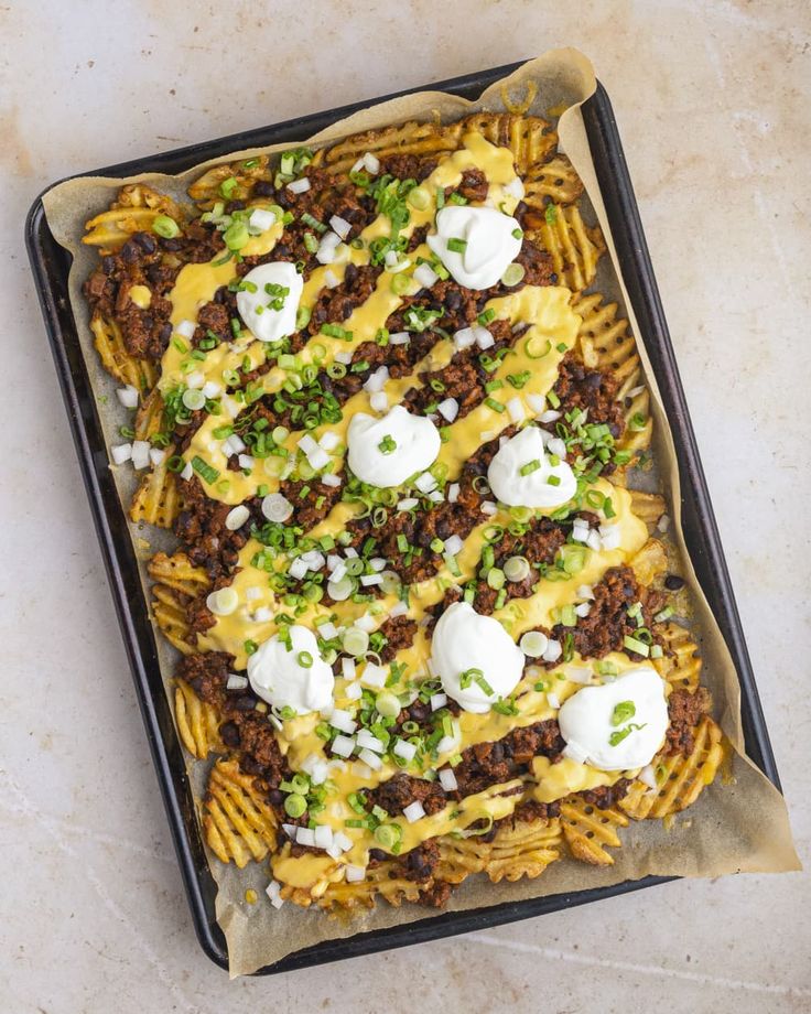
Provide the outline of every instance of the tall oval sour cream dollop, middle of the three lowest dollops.
<path id="1" fill-rule="evenodd" d="M 477 714 L 512 693 L 525 662 L 523 652 L 501 624 L 491 616 L 482 616 L 466 602 L 455 602 L 440 616 L 431 658 L 445 693 L 465 711 Z M 467 686 L 463 687 L 463 682 Z"/>

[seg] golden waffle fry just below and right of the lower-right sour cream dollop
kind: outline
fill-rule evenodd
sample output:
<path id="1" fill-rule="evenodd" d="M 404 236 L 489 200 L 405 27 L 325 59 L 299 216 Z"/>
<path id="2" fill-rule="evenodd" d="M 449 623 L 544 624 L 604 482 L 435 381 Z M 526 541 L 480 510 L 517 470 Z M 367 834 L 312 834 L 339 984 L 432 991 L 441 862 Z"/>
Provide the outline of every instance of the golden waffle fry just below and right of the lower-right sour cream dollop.
<path id="1" fill-rule="evenodd" d="M 724 758 L 722 732 L 704 715 L 693 731 L 695 745 L 689 757 L 683 754 L 659 754 L 652 765 L 658 788 L 635 781 L 620 808 L 635 820 L 667 817 L 692 806 L 711 785 Z"/>

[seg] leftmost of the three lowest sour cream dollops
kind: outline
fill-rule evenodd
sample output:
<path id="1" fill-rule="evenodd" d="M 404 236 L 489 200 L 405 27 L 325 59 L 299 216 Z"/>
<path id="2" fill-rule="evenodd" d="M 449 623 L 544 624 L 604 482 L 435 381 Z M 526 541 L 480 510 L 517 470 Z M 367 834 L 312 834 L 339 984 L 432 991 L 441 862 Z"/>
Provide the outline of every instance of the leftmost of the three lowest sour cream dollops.
<path id="1" fill-rule="evenodd" d="M 290 627 L 290 649 L 275 635 L 248 656 L 248 679 L 263 701 L 296 714 L 321 711 L 333 701 L 333 670 L 318 654 L 313 632 L 299 624 Z"/>

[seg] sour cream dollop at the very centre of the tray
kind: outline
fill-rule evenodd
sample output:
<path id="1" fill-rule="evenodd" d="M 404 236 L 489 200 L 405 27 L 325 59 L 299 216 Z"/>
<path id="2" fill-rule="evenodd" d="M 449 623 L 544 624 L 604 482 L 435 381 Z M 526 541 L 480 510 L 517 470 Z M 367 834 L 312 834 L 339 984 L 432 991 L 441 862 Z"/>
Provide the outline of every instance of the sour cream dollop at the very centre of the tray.
<path id="1" fill-rule="evenodd" d="M 347 445 L 349 467 L 360 482 L 386 488 L 430 467 L 442 439 L 430 419 L 396 404 L 380 419 L 366 412 L 353 416 Z"/>

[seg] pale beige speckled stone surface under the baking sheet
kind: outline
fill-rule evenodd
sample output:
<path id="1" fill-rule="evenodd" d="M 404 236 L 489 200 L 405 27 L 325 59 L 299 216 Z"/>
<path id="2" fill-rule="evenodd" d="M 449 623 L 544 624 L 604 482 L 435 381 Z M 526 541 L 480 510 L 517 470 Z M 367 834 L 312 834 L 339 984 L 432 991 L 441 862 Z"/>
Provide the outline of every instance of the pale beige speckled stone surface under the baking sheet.
<path id="1" fill-rule="evenodd" d="M 810 28 L 803 0 L 0 6 L 3 1012 L 811 1010 L 807 874 L 677 883 L 271 980 L 210 966 L 22 248 L 57 177 L 582 48 L 614 100 L 808 862 Z"/>

